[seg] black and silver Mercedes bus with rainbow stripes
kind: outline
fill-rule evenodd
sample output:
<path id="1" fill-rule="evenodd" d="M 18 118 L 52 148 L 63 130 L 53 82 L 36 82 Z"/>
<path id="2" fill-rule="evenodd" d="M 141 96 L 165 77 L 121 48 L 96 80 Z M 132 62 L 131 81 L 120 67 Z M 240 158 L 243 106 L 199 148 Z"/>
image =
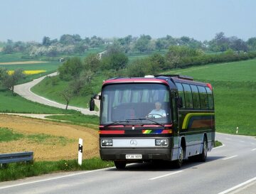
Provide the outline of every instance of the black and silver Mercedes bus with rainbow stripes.
<path id="1" fill-rule="evenodd" d="M 103 82 L 100 95 L 100 157 L 127 163 L 206 161 L 215 141 L 213 87 L 183 75 L 119 77 Z"/>

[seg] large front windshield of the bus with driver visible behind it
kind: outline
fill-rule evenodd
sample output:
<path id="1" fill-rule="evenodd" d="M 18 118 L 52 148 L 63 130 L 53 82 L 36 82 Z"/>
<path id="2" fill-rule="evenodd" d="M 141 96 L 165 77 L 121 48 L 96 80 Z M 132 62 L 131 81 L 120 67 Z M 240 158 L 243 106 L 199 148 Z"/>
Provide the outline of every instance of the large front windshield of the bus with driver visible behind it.
<path id="1" fill-rule="evenodd" d="M 171 122 L 169 89 L 158 83 L 113 84 L 102 88 L 100 124 Z"/>

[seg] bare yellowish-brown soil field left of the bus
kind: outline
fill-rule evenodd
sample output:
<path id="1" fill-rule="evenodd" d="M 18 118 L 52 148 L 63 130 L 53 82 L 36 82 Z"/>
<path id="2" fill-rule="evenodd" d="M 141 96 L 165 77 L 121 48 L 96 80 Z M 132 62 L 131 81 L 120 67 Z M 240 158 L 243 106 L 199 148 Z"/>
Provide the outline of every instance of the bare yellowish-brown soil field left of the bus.
<path id="1" fill-rule="evenodd" d="M 83 158 L 99 156 L 97 131 L 84 126 L 1 114 L 0 127 L 24 136 L 16 141 L 0 142 L 0 153 L 33 151 L 36 161 L 75 159 L 78 158 L 78 139 L 82 138 Z M 26 138 L 42 134 L 48 138 L 41 141 Z"/>

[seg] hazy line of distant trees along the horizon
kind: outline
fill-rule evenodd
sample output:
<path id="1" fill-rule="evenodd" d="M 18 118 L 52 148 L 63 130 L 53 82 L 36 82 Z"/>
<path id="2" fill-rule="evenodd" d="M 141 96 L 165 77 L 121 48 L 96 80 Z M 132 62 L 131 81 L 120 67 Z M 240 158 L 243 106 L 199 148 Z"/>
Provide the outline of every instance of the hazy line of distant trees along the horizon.
<path id="1" fill-rule="evenodd" d="M 78 53 L 82 55 L 89 48 L 97 48 L 101 45 L 111 46 L 115 45 L 122 53 L 146 53 L 154 50 L 166 50 L 172 45 L 183 45 L 189 48 L 196 48 L 201 50 L 209 50 L 213 52 L 225 52 L 227 50 L 235 51 L 252 51 L 256 50 L 256 37 L 248 38 L 243 41 L 236 36 L 226 37 L 223 32 L 216 33 L 215 37 L 210 41 L 197 41 L 188 36 L 181 38 L 174 38 L 167 35 L 163 38 L 151 38 L 149 35 L 141 35 L 134 37 L 132 35 L 123 38 L 100 38 L 92 36 L 91 38 L 81 38 L 80 35 L 64 34 L 57 38 L 50 39 L 44 36 L 41 43 L 37 42 L 22 42 L 7 40 L 2 50 L 3 53 L 20 52 L 28 55 L 31 58 L 40 56 L 55 57 L 57 55 L 70 55 Z"/>

